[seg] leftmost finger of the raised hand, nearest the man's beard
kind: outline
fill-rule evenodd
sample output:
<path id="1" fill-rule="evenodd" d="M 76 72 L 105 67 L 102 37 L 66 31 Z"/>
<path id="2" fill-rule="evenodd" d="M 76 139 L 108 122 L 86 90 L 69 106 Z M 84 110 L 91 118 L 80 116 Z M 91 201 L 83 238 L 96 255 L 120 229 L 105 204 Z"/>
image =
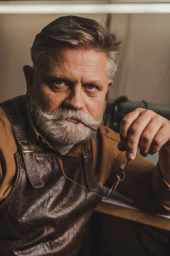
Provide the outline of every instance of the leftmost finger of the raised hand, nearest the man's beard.
<path id="1" fill-rule="evenodd" d="M 134 111 L 128 113 L 121 121 L 119 135 L 121 144 L 124 148 L 126 147 L 126 140 L 130 126 L 139 117 L 139 114 L 140 111 L 136 108 Z"/>

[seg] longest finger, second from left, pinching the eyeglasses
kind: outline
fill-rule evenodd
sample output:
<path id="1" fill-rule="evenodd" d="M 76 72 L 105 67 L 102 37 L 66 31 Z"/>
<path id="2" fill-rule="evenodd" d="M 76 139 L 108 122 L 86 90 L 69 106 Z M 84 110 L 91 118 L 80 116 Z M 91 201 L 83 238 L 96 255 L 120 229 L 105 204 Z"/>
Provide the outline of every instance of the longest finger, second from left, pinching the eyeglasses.
<path id="1" fill-rule="evenodd" d="M 152 111 L 153 112 L 153 111 Z M 141 115 L 133 122 L 129 129 L 127 144 L 126 144 L 126 157 L 129 160 L 133 160 L 136 157 L 137 148 L 142 132 L 150 122 L 153 113 L 149 111 L 143 111 Z M 149 114 L 150 113 L 150 114 Z"/>

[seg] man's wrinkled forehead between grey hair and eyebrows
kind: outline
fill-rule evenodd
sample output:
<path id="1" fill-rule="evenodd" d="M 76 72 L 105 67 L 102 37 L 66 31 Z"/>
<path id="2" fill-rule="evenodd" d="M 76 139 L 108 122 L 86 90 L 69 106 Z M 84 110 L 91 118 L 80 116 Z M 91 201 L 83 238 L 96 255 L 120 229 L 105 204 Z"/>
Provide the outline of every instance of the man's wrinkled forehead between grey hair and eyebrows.
<path id="1" fill-rule="evenodd" d="M 107 56 L 97 50 L 63 48 L 53 52 L 48 62 L 49 73 L 68 76 L 107 78 Z"/>

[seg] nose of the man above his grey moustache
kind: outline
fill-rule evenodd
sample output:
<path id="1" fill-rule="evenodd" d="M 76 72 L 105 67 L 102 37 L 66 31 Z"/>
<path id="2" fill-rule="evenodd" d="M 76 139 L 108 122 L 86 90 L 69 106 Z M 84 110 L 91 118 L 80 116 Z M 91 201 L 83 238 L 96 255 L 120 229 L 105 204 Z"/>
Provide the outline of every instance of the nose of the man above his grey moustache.
<path id="1" fill-rule="evenodd" d="M 85 102 L 83 92 L 81 89 L 73 90 L 64 101 L 64 105 L 69 108 L 83 109 L 85 108 Z"/>

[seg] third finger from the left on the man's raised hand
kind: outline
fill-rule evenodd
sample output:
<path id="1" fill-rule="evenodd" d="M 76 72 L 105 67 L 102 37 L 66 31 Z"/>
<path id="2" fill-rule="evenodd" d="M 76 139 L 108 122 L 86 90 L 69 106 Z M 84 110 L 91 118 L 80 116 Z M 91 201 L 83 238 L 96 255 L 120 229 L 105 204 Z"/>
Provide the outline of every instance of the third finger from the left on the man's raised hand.
<path id="1" fill-rule="evenodd" d="M 162 126 L 161 116 L 155 116 L 150 120 L 150 122 L 142 132 L 142 135 L 139 140 L 139 151 L 143 157 L 147 157 L 147 155 L 149 154 L 150 145 L 156 133 L 161 128 L 161 126 Z"/>

